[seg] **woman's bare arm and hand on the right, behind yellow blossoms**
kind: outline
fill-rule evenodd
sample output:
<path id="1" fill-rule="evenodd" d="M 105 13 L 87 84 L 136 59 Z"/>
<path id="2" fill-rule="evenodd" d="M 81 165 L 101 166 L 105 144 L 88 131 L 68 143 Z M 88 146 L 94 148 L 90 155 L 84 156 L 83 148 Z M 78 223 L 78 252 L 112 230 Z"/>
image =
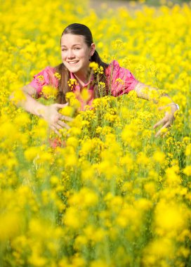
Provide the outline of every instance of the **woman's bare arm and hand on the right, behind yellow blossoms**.
<path id="1" fill-rule="evenodd" d="M 154 129 L 156 129 L 159 125 L 163 125 L 155 135 L 155 137 L 159 136 L 162 133 L 163 129 L 171 126 L 171 124 L 173 123 L 173 120 L 175 118 L 174 114 L 177 110 L 179 110 L 178 105 L 173 102 L 173 100 L 167 93 L 160 93 L 160 90 L 152 86 L 147 86 L 146 84 L 143 84 L 141 82 L 138 82 L 138 84 L 136 84 L 134 90 L 136 91 L 138 98 L 152 100 L 156 104 L 159 103 L 160 98 L 163 98 L 165 105 L 160 107 L 159 110 L 164 109 L 166 106 L 171 107 L 171 112 L 166 112 L 164 118 L 162 118 L 153 126 Z"/>

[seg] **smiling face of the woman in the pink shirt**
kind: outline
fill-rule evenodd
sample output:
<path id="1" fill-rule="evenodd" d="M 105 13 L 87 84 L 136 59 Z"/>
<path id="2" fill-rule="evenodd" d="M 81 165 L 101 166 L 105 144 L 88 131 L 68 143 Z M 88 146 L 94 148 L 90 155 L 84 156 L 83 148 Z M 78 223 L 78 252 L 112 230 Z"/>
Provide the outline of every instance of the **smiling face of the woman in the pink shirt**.
<path id="1" fill-rule="evenodd" d="M 82 35 L 64 34 L 61 38 L 62 62 L 70 72 L 84 76 L 88 70 L 89 58 L 95 51 L 95 44 L 88 47 Z"/>

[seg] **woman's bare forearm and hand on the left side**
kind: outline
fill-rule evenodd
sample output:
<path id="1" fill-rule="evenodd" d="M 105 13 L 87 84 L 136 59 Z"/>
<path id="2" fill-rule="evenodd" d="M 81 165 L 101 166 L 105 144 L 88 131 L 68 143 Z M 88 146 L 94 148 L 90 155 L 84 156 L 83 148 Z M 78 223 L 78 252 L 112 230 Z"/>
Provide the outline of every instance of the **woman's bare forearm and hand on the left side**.
<path id="1" fill-rule="evenodd" d="M 72 118 L 63 116 L 58 112 L 60 108 L 64 108 L 67 104 L 43 105 L 39 103 L 32 97 L 36 95 L 36 89 L 29 84 L 22 87 L 21 90 L 24 93 L 25 98 L 16 104 L 18 107 L 22 107 L 27 112 L 45 119 L 50 128 L 53 129 L 58 136 L 60 136 L 59 129 L 62 129 L 63 127 L 66 129 L 70 128 L 65 122 L 62 122 L 62 119 L 70 122 L 72 121 Z M 14 102 L 14 93 L 12 94 L 11 99 Z"/>

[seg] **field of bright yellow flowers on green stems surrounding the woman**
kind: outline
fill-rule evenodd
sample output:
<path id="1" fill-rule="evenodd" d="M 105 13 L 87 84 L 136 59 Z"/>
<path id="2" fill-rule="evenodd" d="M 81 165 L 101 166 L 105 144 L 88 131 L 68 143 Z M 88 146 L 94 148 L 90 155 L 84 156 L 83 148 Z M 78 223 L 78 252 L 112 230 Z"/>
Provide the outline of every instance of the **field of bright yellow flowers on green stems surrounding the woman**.
<path id="1" fill-rule="evenodd" d="M 191 4 L 98 14 L 88 1 L 10 0 L 0 13 L 0 266 L 191 266 Z M 55 148 L 46 122 L 16 108 L 20 88 L 60 64 L 73 22 L 91 29 L 103 61 L 178 103 L 165 136 L 153 129 L 162 100 L 134 91 L 81 112 L 68 93 L 60 112 L 74 119 Z"/>

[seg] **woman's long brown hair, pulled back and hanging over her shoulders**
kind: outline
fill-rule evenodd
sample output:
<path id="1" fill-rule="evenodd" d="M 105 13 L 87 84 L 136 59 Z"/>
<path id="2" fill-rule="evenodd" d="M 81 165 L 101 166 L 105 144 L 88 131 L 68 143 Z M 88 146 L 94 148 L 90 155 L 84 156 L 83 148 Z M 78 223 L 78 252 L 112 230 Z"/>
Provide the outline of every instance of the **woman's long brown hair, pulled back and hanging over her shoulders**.
<path id="1" fill-rule="evenodd" d="M 62 32 L 61 38 L 64 34 L 75 34 L 75 35 L 82 35 L 84 37 L 84 41 L 88 47 L 91 47 L 91 44 L 93 44 L 93 37 L 91 34 L 91 30 L 86 25 L 79 24 L 79 23 L 73 23 L 68 25 L 65 30 Z M 61 39 L 60 38 L 60 39 Z M 60 41 L 61 42 L 61 41 Z M 107 82 L 105 80 L 105 69 L 108 66 L 107 63 L 104 63 L 98 54 L 97 51 L 93 53 L 93 56 L 91 56 L 90 59 L 92 62 L 98 63 L 98 66 L 103 67 L 103 74 L 99 74 L 99 82 L 105 83 L 105 91 L 107 89 Z M 66 103 L 65 95 L 67 92 L 70 92 L 70 86 L 68 86 L 67 82 L 70 79 L 70 72 L 67 70 L 67 67 L 63 63 L 55 67 L 55 71 L 60 74 L 60 81 L 58 85 L 58 97 L 56 101 L 58 103 Z M 104 96 L 105 92 L 98 90 L 98 75 L 94 74 L 94 95 L 95 98 L 99 98 L 100 96 Z"/>

